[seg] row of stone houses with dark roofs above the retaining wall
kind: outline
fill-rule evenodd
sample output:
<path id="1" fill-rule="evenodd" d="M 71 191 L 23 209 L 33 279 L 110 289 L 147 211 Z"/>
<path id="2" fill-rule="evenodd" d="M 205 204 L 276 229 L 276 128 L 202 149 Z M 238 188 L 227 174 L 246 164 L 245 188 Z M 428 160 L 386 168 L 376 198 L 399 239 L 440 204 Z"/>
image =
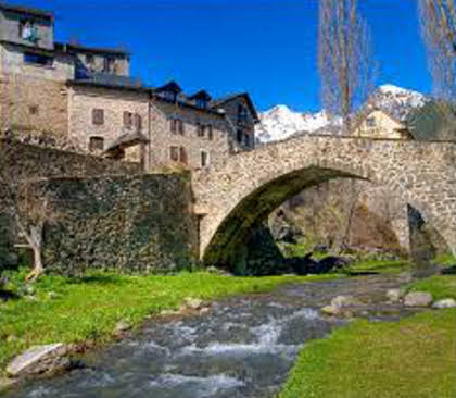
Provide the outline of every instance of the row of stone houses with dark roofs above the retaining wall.
<path id="1" fill-rule="evenodd" d="M 248 94 L 212 99 L 177 83 L 144 86 L 130 54 L 54 41 L 54 17 L 0 3 L 0 130 L 41 132 L 80 151 L 145 170 L 208 167 L 254 148 Z"/>

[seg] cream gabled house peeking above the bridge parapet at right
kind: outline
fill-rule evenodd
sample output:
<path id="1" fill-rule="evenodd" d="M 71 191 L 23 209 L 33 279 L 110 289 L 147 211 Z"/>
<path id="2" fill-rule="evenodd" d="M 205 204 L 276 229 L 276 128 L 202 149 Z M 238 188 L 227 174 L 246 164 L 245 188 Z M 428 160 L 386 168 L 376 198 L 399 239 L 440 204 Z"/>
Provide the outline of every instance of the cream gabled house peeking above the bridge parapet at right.
<path id="1" fill-rule="evenodd" d="M 383 110 L 368 110 L 358 116 L 353 126 L 355 137 L 411 139 L 406 122 L 398 121 Z"/>

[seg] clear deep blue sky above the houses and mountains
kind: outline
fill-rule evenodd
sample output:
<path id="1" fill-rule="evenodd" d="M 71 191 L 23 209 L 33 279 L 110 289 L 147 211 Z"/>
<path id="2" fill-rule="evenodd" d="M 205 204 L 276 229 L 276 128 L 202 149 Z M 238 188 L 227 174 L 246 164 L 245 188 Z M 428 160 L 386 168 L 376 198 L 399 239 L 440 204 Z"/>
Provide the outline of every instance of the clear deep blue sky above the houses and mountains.
<path id="1" fill-rule="evenodd" d="M 417 0 L 362 0 L 378 84 L 430 91 Z M 55 13 L 56 39 L 123 46 L 131 74 L 185 91 L 249 91 L 259 110 L 320 109 L 317 0 L 9 0 Z"/>

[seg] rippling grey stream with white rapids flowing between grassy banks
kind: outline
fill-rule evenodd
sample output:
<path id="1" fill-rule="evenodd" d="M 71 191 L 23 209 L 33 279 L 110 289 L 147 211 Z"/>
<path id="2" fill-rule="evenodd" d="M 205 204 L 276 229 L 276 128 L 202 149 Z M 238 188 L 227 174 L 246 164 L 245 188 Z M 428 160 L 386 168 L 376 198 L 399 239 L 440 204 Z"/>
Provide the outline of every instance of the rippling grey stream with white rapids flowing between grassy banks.
<path id="1" fill-rule="evenodd" d="M 273 294 L 215 302 L 206 314 L 162 319 L 84 358 L 88 368 L 34 382 L 8 398 L 274 397 L 306 341 L 346 319 L 320 315 L 338 295 L 356 316 L 394 321 L 413 312 L 385 302 L 398 277 L 368 276 L 288 285 Z"/>

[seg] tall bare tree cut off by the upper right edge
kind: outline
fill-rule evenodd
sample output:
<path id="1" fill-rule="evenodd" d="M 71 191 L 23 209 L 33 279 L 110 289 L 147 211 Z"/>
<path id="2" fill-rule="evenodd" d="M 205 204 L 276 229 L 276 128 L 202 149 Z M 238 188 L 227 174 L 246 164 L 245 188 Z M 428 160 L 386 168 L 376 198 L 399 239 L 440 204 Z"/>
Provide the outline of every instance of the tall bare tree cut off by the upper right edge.
<path id="1" fill-rule="evenodd" d="M 456 5 L 454 0 L 419 0 L 421 33 L 434 95 L 456 100 Z"/>

